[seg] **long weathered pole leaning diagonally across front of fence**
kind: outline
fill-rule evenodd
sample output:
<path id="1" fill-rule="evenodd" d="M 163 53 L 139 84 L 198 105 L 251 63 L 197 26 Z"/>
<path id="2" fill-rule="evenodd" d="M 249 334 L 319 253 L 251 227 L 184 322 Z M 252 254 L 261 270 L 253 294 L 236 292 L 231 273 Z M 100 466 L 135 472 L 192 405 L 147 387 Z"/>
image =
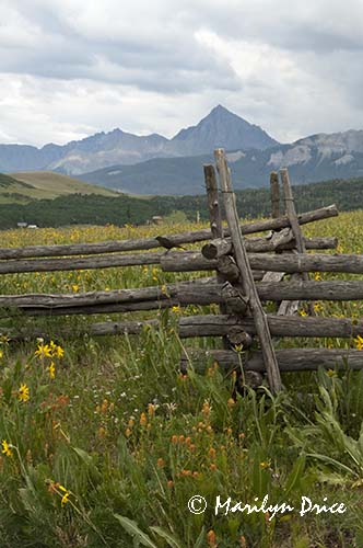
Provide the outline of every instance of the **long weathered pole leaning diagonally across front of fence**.
<path id="1" fill-rule="evenodd" d="M 272 339 L 267 317 L 257 294 L 253 272 L 249 266 L 245 244 L 241 233 L 235 195 L 232 190 L 231 183 L 231 172 L 227 167 L 223 149 L 219 148 L 214 150 L 214 157 L 223 193 L 225 216 L 229 222 L 234 246 L 236 263 L 242 274 L 242 286 L 244 289 L 244 294 L 248 297 L 249 300 L 250 310 L 256 326 L 256 332 L 261 344 L 264 362 L 266 365 L 271 391 L 278 392 L 279 390 L 281 390 L 280 369 L 272 345 Z"/>

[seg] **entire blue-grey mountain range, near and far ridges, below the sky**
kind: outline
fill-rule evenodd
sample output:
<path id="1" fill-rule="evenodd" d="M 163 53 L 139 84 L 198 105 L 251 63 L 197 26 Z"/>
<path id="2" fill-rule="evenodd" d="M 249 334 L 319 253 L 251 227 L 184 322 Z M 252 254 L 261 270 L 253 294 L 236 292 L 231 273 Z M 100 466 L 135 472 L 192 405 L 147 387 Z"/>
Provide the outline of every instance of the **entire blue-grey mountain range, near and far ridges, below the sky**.
<path id="1" fill-rule="evenodd" d="M 202 164 L 213 161 L 218 147 L 229 151 L 236 189 L 266 186 L 269 173 L 282 167 L 289 168 L 293 183 L 363 174 L 363 130 L 317 134 L 282 145 L 221 105 L 172 139 L 117 128 L 40 149 L 0 145 L 0 172 L 56 171 L 132 194 L 200 194 Z"/>

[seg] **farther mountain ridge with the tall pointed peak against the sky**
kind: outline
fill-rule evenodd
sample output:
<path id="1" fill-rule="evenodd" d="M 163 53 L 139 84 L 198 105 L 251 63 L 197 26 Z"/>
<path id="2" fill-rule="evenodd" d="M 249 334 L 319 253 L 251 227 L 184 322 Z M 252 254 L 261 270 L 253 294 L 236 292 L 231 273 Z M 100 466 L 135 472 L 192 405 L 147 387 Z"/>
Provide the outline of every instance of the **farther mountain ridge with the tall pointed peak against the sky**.
<path id="1" fill-rule="evenodd" d="M 218 105 L 198 125 L 182 129 L 172 139 L 157 134 L 138 136 L 116 128 L 63 146 L 45 145 L 40 149 L 0 145 L 0 171 L 45 170 L 78 175 L 115 163 L 197 156 L 222 146 L 264 149 L 277 142 L 260 127 Z"/>

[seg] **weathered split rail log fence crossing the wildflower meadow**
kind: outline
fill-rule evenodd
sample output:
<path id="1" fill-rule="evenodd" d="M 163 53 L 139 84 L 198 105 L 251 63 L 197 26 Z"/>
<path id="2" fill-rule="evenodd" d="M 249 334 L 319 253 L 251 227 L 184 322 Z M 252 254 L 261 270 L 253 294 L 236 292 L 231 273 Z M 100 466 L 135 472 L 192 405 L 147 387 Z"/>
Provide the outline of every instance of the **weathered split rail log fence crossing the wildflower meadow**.
<path id="1" fill-rule="evenodd" d="M 55 317 L 216 304 L 220 313 L 182 316 L 178 335 L 180 339 L 221 336 L 223 349 L 186 347 L 182 370 L 190 364 L 200 370 L 208 359 L 225 368 L 239 368 L 243 359 L 245 370 L 267 373 L 270 388 L 278 391 L 281 389 L 280 372 L 344 367 L 347 364 L 351 368 L 363 367 L 363 352 L 355 349 L 276 349 L 276 338 L 351 339 L 363 335 L 363 320 L 314 316 L 314 300 L 363 299 L 363 279 L 323 282 L 309 278 L 312 272 L 363 274 L 363 255 L 319 253 L 335 249 L 337 238 L 303 237 L 303 225 L 337 216 L 337 207 L 331 205 L 297 215 L 288 170 L 280 170 L 283 199 L 279 174 L 273 172 L 270 176 L 272 217 L 241 225 L 224 151 L 216 149 L 214 156 L 220 191 L 214 167 L 204 165 L 210 229 L 167 236 L 174 246 L 207 241 L 201 251 L 153 251 L 161 247 L 155 238 L 0 249 L 0 274 L 157 264 L 165 272 L 208 272 L 209 277 L 166 287 L 1 295 L 0 308 L 9 315 L 16 310 L 26 316 Z M 221 196 L 227 227 L 222 225 Z M 282 202 L 284 215 L 280 210 Z M 267 233 L 249 236 L 257 232 Z M 267 313 L 265 305 L 271 301 L 277 304 L 277 311 Z M 309 305 L 309 316 L 296 315 L 301 301 Z M 138 334 L 147 324 L 157 326 L 159 320 L 103 321 L 91 323 L 85 330 L 91 335 Z M 17 329 L 9 334 L 13 339 L 47 335 L 36 329 L 32 332 Z M 58 335 L 72 333 L 59 330 Z"/>

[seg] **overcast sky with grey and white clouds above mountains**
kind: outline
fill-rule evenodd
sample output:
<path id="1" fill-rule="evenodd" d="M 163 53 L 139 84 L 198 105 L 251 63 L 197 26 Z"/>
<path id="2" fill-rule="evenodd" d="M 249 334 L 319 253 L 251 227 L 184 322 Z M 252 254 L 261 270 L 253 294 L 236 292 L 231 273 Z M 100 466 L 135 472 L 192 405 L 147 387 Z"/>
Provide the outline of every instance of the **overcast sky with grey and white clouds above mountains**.
<path id="1" fill-rule="evenodd" d="M 362 0 L 0 0 L 0 142 L 172 137 L 218 103 L 281 141 L 363 128 Z"/>

